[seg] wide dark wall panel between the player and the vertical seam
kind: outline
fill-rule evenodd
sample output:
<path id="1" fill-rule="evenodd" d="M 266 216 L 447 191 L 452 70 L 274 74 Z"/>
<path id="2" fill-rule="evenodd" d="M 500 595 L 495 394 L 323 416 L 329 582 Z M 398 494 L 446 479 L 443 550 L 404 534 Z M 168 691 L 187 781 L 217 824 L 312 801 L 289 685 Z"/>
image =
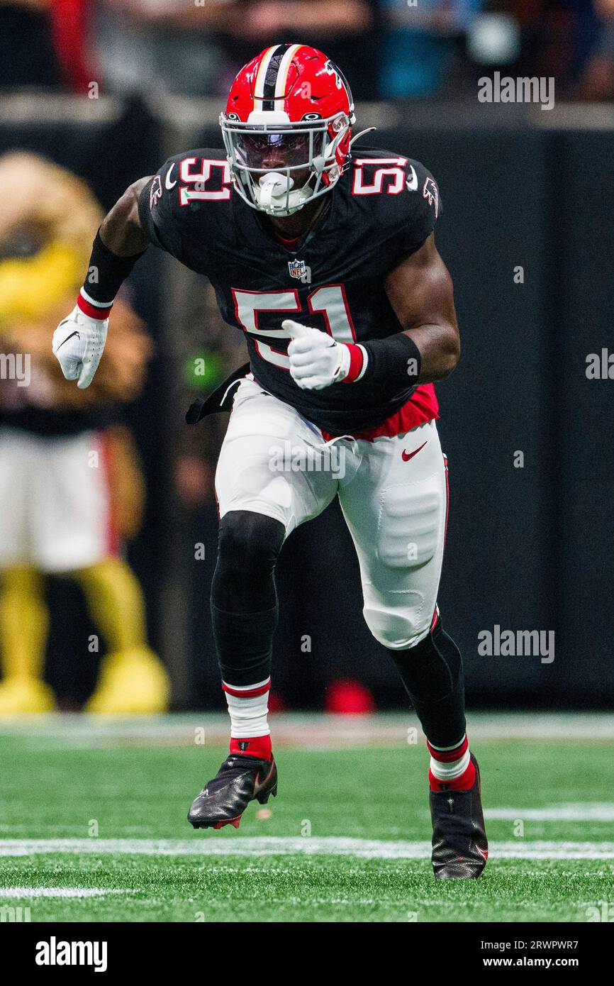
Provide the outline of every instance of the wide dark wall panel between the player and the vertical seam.
<path id="1" fill-rule="evenodd" d="M 469 700 L 526 701 L 551 666 L 480 656 L 478 634 L 553 629 L 547 551 L 548 206 L 545 141 L 525 131 L 377 134 L 440 183 L 436 237 L 454 281 L 461 360 L 438 385 L 450 513 L 440 594 Z M 522 268 L 515 279 L 514 268 Z M 523 455 L 523 465 L 517 453 Z M 547 679 L 547 678 L 546 678 Z"/>

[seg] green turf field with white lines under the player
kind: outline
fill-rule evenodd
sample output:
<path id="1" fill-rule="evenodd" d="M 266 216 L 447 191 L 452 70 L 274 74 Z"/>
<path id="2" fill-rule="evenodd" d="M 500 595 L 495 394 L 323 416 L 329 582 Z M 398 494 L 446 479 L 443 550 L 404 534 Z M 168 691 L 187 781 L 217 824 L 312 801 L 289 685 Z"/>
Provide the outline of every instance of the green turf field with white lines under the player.
<path id="1" fill-rule="evenodd" d="M 474 717 L 492 854 L 476 881 L 433 879 L 427 756 L 409 720 L 297 722 L 277 731 L 270 817 L 253 804 L 221 832 L 194 832 L 185 813 L 223 759 L 225 720 L 0 724 L 0 908 L 32 921 L 614 918 L 614 717 Z"/>

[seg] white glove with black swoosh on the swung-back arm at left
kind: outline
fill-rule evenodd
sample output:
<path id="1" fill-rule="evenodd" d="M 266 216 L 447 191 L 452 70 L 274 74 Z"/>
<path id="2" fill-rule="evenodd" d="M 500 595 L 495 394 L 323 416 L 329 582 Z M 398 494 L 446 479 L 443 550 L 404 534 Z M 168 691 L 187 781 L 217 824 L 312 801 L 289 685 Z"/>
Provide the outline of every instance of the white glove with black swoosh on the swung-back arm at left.
<path id="1" fill-rule="evenodd" d="M 90 318 L 75 306 L 53 333 L 51 350 L 66 380 L 76 380 L 82 390 L 89 387 L 101 362 L 108 318 Z"/>

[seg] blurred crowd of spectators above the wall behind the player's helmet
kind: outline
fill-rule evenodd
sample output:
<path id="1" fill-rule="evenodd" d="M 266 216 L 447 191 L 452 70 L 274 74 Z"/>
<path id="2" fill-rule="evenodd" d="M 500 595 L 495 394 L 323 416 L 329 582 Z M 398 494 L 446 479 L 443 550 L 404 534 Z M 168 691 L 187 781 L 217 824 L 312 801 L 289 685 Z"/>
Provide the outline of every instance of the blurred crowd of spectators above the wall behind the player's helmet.
<path id="1" fill-rule="evenodd" d="M 223 96 L 271 37 L 300 36 L 357 100 L 458 99 L 484 67 L 614 94 L 612 0 L 2 0 L 0 87 Z"/>

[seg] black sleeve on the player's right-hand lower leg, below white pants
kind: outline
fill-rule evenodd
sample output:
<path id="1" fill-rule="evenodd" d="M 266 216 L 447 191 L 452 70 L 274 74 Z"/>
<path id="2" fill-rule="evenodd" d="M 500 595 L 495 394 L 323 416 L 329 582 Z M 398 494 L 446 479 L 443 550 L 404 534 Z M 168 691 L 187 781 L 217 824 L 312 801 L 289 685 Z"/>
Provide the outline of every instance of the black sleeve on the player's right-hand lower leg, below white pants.
<path id="1" fill-rule="evenodd" d="M 435 629 L 408 651 L 391 651 L 405 690 L 427 740 L 452 746 L 465 733 L 465 689 L 460 651 L 443 630 Z"/>

